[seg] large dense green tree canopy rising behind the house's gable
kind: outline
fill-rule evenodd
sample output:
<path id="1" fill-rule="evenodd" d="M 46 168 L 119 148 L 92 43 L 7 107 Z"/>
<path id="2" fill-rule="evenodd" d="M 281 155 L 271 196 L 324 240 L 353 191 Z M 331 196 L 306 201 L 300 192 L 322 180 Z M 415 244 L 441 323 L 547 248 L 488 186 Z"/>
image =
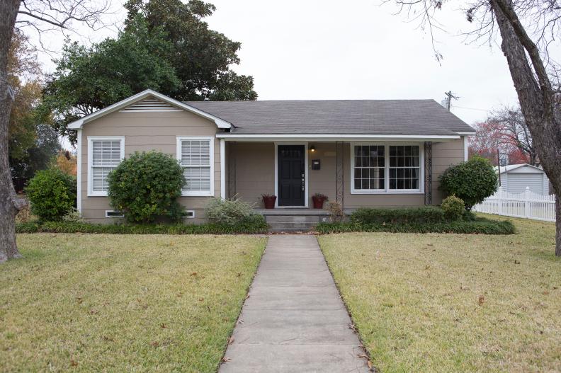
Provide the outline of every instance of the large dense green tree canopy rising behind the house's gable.
<path id="1" fill-rule="evenodd" d="M 147 88 L 177 100 L 254 100 L 253 78 L 229 69 L 240 43 L 210 30 L 212 4 L 129 1 L 125 29 L 91 47 L 67 43 L 45 89 L 55 127 Z"/>

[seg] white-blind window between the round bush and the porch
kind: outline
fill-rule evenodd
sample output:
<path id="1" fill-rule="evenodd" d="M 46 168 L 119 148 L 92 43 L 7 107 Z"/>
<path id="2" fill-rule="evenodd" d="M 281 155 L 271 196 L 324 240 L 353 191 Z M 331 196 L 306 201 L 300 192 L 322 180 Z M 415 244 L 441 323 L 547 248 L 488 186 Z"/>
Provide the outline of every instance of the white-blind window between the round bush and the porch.
<path id="1" fill-rule="evenodd" d="M 181 140 L 183 190 L 210 192 L 210 140 Z"/>

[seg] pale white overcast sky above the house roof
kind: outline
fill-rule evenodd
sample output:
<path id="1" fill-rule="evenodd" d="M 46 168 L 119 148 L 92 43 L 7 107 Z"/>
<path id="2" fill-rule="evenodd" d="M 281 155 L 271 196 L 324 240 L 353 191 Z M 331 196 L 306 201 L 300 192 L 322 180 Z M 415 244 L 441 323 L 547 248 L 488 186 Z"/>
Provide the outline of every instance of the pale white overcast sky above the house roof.
<path id="1" fill-rule="evenodd" d="M 436 35 L 438 64 L 426 31 L 380 1 L 212 0 L 210 28 L 242 42 L 242 62 L 233 67 L 254 76 L 261 100 L 433 98 L 445 91 L 460 99 L 453 113 L 468 124 L 488 110 L 516 103 L 499 45 L 468 45 L 463 13 L 447 3 Z M 119 8 L 115 1 L 115 8 Z M 122 21 L 124 11 L 116 16 Z M 89 32 L 92 41 L 115 30 Z M 83 39 L 86 41 L 86 39 Z M 51 40 L 59 47 L 58 40 Z M 47 71 L 52 64 L 41 57 Z"/>

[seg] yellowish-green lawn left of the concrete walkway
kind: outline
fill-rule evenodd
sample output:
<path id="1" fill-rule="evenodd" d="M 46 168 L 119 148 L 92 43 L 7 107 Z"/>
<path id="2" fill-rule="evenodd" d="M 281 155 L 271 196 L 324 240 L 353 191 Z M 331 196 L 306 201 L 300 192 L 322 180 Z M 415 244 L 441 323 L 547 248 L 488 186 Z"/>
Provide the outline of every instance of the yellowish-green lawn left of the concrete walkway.
<path id="1" fill-rule="evenodd" d="M 20 234 L 0 372 L 215 372 L 266 239 Z"/>

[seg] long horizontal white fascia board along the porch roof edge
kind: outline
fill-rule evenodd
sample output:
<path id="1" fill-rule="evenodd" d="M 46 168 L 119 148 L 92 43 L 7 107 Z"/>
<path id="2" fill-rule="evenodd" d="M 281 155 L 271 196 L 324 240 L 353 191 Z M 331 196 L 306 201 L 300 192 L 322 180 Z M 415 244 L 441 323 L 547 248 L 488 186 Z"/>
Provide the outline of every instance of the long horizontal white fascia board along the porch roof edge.
<path id="1" fill-rule="evenodd" d="M 283 140 L 299 140 L 299 141 L 451 141 L 460 139 L 459 134 L 232 134 L 217 133 L 219 139 L 229 139 L 240 141 L 283 141 Z"/>

